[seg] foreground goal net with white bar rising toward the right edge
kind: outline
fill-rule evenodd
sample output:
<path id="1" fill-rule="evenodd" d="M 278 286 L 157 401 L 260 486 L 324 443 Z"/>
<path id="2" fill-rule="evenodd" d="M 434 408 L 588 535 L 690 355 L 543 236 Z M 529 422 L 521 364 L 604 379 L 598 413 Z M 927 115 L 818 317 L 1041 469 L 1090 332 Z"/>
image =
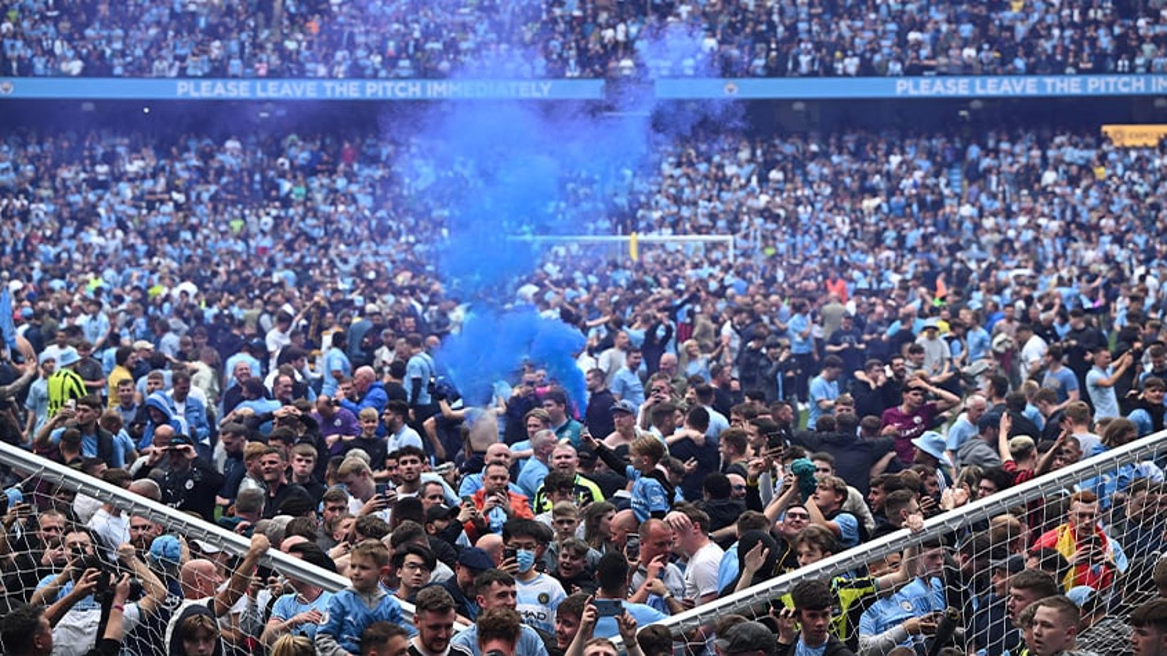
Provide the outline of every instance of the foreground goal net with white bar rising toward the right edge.
<path id="1" fill-rule="evenodd" d="M 1015 615 L 1025 620 L 1025 603 L 1034 594 L 1044 596 L 1048 585 L 1082 608 L 1079 649 L 1128 652 L 1127 615 L 1160 594 L 1155 566 L 1167 538 L 1165 437 L 1142 438 L 983 498 L 976 498 L 976 476 L 958 477 L 956 484 L 973 498 L 925 518 L 917 532 L 901 529 L 741 592 L 722 592 L 661 623 L 693 651 L 728 616 L 773 621 L 771 608 L 781 608 L 795 585 L 817 579 L 832 585 L 836 626 L 846 627 L 859 656 L 882 655 L 897 644 L 928 652 L 936 627 L 911 620 L 949 608 L 958 614 L 951 641 L 960 652 L 1016 654 L 1023 644 Z M 1099 501 L 1090 503 L 1095 497 Z M 1077 531 L 1075 523 L 1085 528 Z M 916 557 L 907 586 L 857 593 L 864 577 L 895 572 L 908 549 Z M 1022 570 L 1047 574 L 1019 574 Z M 1167 567 L 1159 577 L 1167 579 Z M 1167 593 L 1167 580 L 1158 582 Z"/>

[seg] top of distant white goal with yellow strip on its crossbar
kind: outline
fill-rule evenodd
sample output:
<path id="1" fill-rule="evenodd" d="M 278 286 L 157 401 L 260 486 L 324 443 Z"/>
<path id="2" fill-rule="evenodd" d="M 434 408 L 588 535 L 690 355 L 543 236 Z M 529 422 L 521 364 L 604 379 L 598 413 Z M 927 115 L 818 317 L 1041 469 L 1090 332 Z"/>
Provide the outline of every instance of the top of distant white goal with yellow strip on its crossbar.
<path id="1" fill-rule="evenodd" d="M 657 257 L 720 258 L 734 263 L 733 235 L 512 235 L 508 239 L 551 245 L 551 259 L 599 256 L 602 259 Z"/>

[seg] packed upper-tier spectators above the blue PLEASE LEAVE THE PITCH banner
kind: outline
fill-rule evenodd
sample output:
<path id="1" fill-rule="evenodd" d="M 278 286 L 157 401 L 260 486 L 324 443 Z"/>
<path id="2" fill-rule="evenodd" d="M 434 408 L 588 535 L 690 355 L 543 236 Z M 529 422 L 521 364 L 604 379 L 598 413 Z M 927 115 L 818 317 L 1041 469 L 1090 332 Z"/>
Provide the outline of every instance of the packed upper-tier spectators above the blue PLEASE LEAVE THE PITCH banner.
<path id="1" fill-rule="evenodd" d="M 9 1 L 0 76 L 602 78 L 1167 71 L 1158 2 Z"/>

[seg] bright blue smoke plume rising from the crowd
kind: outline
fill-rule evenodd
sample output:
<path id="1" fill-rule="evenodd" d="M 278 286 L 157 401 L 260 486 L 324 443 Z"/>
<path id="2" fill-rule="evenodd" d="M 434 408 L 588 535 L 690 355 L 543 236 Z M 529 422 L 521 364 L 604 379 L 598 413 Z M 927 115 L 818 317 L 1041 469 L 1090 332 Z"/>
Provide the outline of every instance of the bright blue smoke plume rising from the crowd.
<path id="1" fill-rule="evenodd" d="M 644 46 L 654 60 L 684 58 L 700 43 L 676 30 Z M 419 207 L 425 197 L 449 208 L 439 217 L 446 238 L 427 254 L 448 292 L 470 302 L 470 313 L 438 358 L 469 403 L 487 402 L 495 382 L 532 362 L 584 409 L 584 374 L 574 356 L 585 337 L 517 300 L 515 289 L 537 271 L 544 249 L 513 237 L 586 233 L 587 222 L 606 212 L 606 201 L 627 194 L 631 174 L 651 163 L 654 137 L 686 133 L 701 112 L 670 107 L 654 127 L 650 99 L 631 98 L 623 106 L 634 111 L 612 118 L 582 105 L 450 103 L 419 124 L 386 120 L 396 140 L 411 144 L 396 170 L 411 183 Z"/>

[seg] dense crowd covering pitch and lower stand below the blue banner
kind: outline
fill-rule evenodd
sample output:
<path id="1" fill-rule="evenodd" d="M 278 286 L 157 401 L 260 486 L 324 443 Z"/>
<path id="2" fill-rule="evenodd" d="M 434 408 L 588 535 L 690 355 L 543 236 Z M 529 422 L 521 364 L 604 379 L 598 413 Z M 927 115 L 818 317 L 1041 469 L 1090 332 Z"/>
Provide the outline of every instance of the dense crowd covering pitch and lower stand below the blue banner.
<path id="1" fill-rule="evenodd" d="M 1071 134 L 672 147 L 592 228 L 738 233 L 739 264 L 645 253 L 522 280 L 586 340 L 587 396 L 529 362 L 488 400 L 443 375 L 474 308 L 406 240 L 435 238 L 407 217 L 440 208 L 394 202 L 396 145 L 6 146 L 0 435 L 252 540 L 231 561 L 18 475 L 6 654 L 99 636 L 138 654 L 612 656 L 616 636 L 663 654 L 666 616 L 1163 427 L 1167 278 L 1132 207 L 1160 186 L 1155 151 Z M 801 585 L 710 649 L 924 649 L 952 607 L 960 654 L 1106 652 L 1128 606 L 1167 593 L 1162 482 L 1142 462 L 1048 490 Z M 267 549 L 351 586 L 252 585 Z M 1161 640 L 1163 603 L 1132 615 L 1132 644 Z M 452 635 L 459 619 L 473 627 Z"/>

